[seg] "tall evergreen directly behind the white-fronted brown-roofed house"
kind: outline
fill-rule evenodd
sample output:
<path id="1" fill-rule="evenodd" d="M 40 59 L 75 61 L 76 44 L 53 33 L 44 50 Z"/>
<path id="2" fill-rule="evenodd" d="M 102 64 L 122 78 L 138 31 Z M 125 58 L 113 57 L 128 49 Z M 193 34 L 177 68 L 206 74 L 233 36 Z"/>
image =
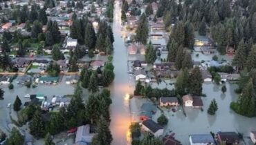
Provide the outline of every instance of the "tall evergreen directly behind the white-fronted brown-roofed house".
<path id="1" fill-rule="evenodd" d="M 193 68 L 188 83 L 189 93 L 192 95 L 202 95 L 202 83 L 203 79 L 200 69 L 198 67 Z"/>

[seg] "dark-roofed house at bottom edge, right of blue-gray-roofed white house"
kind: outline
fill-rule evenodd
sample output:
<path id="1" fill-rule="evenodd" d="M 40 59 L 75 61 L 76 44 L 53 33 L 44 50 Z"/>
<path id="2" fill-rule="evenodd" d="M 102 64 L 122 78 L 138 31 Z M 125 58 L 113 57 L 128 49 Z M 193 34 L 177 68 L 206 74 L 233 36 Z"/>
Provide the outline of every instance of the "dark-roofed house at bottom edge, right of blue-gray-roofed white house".
<path id="1" fill-rule="evenodd" d="M 220 144 L 239 144 L 238 134 L 235 132 L 220 132 L 217 133 L 217 139 Z"/>

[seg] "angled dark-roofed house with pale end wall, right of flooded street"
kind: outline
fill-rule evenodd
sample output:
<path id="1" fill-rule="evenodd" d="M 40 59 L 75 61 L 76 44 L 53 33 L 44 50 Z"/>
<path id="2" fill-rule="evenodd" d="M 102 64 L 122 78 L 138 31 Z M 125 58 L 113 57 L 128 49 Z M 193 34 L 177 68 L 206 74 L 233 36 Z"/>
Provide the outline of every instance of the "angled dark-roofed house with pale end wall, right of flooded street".
<path id="1" fill-rule="evenodd" d="M 163 135 L 163 127 L 159 124 L 156 124 L 152 119 L 147 119 L 142 123 L 143 131 L 148 131 L 152 133 L 155 137 Z"/>

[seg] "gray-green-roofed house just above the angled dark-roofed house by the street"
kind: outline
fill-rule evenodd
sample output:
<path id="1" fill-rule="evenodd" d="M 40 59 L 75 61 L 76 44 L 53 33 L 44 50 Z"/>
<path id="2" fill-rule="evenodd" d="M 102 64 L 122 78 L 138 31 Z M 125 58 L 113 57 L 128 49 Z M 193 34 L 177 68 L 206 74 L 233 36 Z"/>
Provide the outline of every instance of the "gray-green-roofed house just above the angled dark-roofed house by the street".
<path id="1" fill-rule="evenodd" d="M 152 119 L 152 115 L 156 113 L 156 106 L 149 103 L 144 103 L 140 107 L 140 120 L 145 121 L 147 119 Z"/>

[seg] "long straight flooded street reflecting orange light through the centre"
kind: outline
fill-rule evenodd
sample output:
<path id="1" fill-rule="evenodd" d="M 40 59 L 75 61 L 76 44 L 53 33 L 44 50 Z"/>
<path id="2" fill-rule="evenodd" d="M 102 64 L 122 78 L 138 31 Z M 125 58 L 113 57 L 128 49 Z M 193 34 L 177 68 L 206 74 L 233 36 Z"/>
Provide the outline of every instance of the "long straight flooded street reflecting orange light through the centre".
<path id="1" fill-rule="evenodd" d="M 122 39 L 120 2 L 116 1 L 113 18 L 113 66 L 115 66 L 115 80 L 109 87 L 113 103 L 110 106 L 111 124 L 110 130 L 113 135 L 113 145 L 131 144 L 129 137 L 129 125 L 131 115 L 129 109 L 129 94 L 134 90 L 132 78 L 128 75 L 128 55 Z"/>

